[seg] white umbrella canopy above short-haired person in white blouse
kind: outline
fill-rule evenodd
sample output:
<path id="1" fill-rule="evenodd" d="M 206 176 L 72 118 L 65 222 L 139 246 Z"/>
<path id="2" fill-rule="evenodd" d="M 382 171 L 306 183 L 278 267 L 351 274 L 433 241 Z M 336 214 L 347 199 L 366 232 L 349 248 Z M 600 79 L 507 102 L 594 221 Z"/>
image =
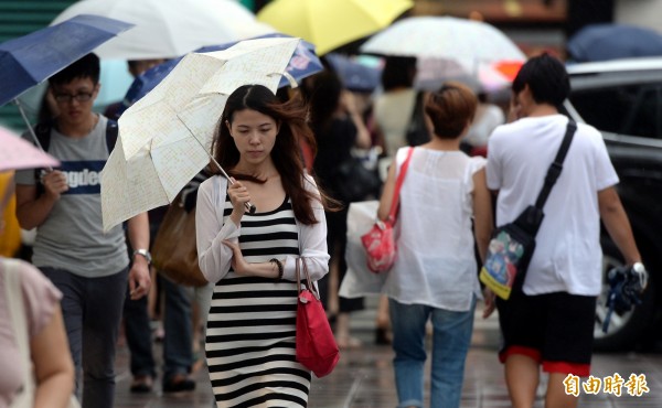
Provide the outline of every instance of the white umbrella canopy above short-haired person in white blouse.
<path id="1" fill-rule="evenodd" d="M 453 17 L 399 20 L 373 35 L 360 50 L 375 55 L 446 58 L 473 74 L 481 64 L 526 58 L 517 45 L 494 26 Z"/>

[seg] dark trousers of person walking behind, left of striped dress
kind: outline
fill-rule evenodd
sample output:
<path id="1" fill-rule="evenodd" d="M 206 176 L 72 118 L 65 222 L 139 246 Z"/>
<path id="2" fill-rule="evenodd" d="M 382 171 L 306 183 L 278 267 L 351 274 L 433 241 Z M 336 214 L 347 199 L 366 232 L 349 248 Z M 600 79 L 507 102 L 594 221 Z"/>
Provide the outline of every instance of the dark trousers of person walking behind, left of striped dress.
<path id="1" fill-rule="evenodd" d="M 160 278 L 166 296 L 163 314 L 163 377 L 167 382 L 175 374 L 188 374 L 193 365 L 193 328 L 191 322 L 192 289 Z M 131 374 L 156 376 L 151 350 L 151 329 L 147 300 L 125 302 L 125 332 L 131 353 Z"/>

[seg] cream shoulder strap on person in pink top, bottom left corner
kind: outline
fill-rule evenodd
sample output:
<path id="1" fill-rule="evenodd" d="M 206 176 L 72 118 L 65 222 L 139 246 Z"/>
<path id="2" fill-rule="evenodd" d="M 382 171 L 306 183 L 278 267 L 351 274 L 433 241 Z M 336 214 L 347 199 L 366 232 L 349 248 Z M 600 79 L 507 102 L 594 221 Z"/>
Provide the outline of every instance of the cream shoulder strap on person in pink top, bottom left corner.
<path id="1" fill-rule="evenodd" d="M 18 260 L 1 258 L 0 262 L 4 268 L 4 292 L 11 326 L 14 333 L 14 340 L 19 347 L 21 357 L 21 368 L 23 372 L 22 393 L 33 393 L 34 383 L 32 378 L 32 363 L 30 362 L 28 324 L 25 319 L 25 308 L 23 307 L 23 290 L 21 288 L 21 277 L 18 269 Z"/>

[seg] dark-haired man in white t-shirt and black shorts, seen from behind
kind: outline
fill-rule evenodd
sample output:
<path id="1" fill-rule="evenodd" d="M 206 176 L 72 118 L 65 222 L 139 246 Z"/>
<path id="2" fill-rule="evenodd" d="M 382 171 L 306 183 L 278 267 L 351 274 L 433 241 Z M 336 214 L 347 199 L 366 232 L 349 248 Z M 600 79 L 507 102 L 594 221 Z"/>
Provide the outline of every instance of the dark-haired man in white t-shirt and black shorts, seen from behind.
<path id="1" fill-rule="evenodd" d="M 558 107 L 570 90 L 565 66 L 543 54 L 512 85 L 514 120 L 489 139 L 487 182 L 498 193 L 496 225 L 533 204 L 564 138 Z M 500 359 L 513 407 L 533 407 L 540 367 L 549 373 L 545 407 L 576 407 L 568 374 L 588 376 L 596 299 L 601 289 L 600 218 L 626 262 L 641 261 L 615 190 L 618 176 L 600 133 L 578 124 L 563 172 L 545 204 L 536 249 L 522 288 L 498 300 Z"/>

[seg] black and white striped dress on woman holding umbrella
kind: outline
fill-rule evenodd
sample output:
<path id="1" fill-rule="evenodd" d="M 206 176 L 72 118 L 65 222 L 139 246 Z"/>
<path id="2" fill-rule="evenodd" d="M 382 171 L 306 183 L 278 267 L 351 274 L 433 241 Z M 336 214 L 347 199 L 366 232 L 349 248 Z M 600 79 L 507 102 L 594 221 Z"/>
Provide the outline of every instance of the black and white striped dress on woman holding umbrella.
<path id="1" fill-rule="evenodd" d="M 225 198 L 224 222 L 232 213 Z M 239 236 L 248 262 L 299 255 L 288 198 L 277 210 L 245 214 Z M 217 407 L 306 407 L 310 372 L 295 356 L 296 282 L 238 277 L 221 279 L 212 298 L 206 358 Z"/>

